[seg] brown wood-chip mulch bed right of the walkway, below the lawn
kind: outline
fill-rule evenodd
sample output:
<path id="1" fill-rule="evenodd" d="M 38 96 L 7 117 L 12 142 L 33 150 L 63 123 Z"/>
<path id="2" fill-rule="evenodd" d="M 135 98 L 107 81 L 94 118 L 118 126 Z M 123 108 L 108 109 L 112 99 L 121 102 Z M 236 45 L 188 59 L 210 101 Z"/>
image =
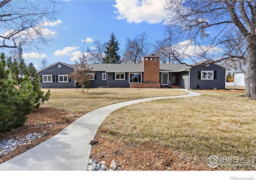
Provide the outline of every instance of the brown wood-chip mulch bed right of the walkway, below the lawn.
<path id="1" fill-rule="evenodd" d="M 108 167 L 115 160 L 125 171 L 217 170 L 206 162 L 184 157 L 181 151 L 174 152 L 156 142 L 143 145 L 121 143 L 104 134 L 97 134 L 94 140 L 99 143 L 92 146 L 90 158 L 99 162 L 104 160 Z"/>

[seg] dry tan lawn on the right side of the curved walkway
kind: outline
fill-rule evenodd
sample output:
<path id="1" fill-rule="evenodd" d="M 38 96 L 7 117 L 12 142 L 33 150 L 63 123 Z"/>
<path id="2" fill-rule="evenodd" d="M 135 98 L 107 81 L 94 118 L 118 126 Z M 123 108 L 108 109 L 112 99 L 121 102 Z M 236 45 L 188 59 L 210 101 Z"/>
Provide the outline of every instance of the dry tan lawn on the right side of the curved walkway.
<path id="1" fill-rule="evenodd" d="M 185 157 L 256 156 L 256 101 L 234 91 L 133 104 L 111 113 L 98 133 L 122 142 L 158 142 Z M 230 166 L 225 170 L 255 170 Z"/>

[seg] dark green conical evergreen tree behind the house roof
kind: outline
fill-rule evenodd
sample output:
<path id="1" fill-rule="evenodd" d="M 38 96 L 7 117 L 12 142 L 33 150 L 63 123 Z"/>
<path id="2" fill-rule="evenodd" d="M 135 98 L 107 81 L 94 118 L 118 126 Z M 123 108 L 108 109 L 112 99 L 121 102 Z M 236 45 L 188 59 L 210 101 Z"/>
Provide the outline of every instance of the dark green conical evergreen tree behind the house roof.
<path id="1" fill-rule="evenodd" d="M 113 32 L 111 32 L 110 40 L 106 44 L 106 56 L 103 58 L 102 63 L 104 64 L 118 64 L 120 62 L 120 56 L 118 55 L 118 50 L 120 43 L 116 40 L 116 36 Z"/>

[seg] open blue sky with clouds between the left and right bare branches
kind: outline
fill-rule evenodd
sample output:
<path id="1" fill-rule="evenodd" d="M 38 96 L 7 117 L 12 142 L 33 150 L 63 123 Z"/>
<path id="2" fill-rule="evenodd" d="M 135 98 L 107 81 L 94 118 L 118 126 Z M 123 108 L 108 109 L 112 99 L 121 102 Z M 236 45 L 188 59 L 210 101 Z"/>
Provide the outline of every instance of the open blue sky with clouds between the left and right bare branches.
<path id="1" fill-rule="evenodd" d="M 74 64 L 84 46 L 92 47 L 95 40 L 108 42 L 113 32 L 120 42 L 120 55 L 127 38 L 146 32 L 148 42 L 164 36 L 165 18 L 161 0 L 70 0 L 62 1 L 62 15 L 49 24 L 48 36 L 53 40 L 49 47 L 37 53 L 24 52 L 27 63 L 38 66 L 46 58 L 50 64 L 58 61 Z"/>

